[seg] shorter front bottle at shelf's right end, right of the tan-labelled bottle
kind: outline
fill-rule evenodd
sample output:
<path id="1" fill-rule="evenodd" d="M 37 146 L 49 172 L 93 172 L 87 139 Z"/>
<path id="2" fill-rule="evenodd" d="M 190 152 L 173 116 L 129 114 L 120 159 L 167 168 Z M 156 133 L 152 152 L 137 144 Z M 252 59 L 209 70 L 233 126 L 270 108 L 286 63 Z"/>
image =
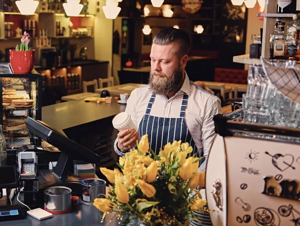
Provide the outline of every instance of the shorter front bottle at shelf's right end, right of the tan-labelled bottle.
<path id="1" fill-rule="evenodd" d="M 286 59 L 296 60 L 297 63 L 300 62 L 299 44 L 299 39 L 296 39 L 293 36 L 293 33 L 287 32 L 284 48 L 284 55 Z"/>

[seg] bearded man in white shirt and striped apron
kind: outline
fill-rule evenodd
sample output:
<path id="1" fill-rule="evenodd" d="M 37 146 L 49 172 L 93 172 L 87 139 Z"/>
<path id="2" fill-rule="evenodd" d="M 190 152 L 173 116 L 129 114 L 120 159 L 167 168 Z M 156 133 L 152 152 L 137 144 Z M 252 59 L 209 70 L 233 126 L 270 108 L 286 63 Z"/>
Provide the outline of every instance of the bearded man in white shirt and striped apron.
<path id="1" fill-rule="evenodd" d="M 125 155 L 148 134 L 156 154 L 168 142 L 188 142 L 192 154 L 204 156 L 199 171 L 205 169 L 214 135 L 213 116 L 221 113 L 221 105 L 216 96 L 189 81 L 184 70 L 189 44 L 188 33 L 173 27 L 163 28 L 153 38 L 149 84 L 131 92 L 125 109 L 138 131 L 118 133 L 114 142 L 118 155 Z"/>

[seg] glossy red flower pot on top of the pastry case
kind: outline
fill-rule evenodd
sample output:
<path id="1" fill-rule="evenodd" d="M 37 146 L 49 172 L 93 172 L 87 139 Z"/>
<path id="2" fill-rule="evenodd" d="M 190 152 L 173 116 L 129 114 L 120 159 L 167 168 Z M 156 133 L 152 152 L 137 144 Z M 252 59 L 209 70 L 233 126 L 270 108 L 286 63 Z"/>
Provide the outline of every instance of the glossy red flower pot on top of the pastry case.
<path id="1" fill-rule="evenodd" d="M 29 51 L 16 51 L 9 49 L 9 61 L 13 73 L 31 73 L 34 66 L 34 49 Z"/>

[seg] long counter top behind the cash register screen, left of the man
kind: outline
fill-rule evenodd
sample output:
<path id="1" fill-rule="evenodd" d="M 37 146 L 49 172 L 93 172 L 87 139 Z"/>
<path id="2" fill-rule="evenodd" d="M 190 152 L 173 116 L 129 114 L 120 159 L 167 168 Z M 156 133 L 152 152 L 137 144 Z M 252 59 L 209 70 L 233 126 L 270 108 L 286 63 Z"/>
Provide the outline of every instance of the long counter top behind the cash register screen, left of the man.
<path id="1" fill-rule="evenodd" d="M 112 99 L 111 104 L 72 100 L 42 107 L 41 120 L 56 130 L 63 131 L 82 124 L 117 115 L 126 105 Z"/>

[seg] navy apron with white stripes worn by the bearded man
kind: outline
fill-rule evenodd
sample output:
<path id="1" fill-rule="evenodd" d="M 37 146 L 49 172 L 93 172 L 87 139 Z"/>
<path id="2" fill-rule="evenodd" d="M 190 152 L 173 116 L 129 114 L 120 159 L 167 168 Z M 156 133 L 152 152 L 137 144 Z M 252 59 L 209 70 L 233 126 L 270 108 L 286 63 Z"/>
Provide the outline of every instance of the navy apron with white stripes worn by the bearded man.
<path id="1" fill-rule="evenodd" d="M 166 145 L 168 142 L 173 143 L 173 141 L 179 140 L 181 140 L 181 143 L 188 142 L 189 146 L 193 148 L 192 154 L 196 153 L 196 156 L 199 157 L 195 142 L 193 141 L 187 129 L 184 119 L 188 95 L 183 94 L 180 109 L 180 118 L 163 118 L 151 116 L 150 112 L 152 104 L 155 100 L 155 96 L 155 94 L 152 94 L 146 112 L 139 123 L 139 139 L 141 138 L 141 136 L 148 134 L 150 148 L 155 152 L 155 154 L 158 154 L 159 149 Z"/>

